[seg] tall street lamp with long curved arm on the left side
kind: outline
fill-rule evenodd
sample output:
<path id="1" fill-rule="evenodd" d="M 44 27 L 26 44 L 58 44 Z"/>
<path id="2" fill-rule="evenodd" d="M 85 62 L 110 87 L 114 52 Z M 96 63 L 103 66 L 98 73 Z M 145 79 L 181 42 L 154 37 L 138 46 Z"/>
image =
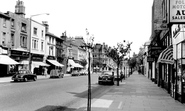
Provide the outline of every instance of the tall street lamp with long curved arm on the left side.
<path id="1" fill-rule="evenodd" d="M 35 15 L 31 15 L 30 16 L 30 39 L 29 39 L 29 45 L 30 45 L 30 48 L 29 48 L 29 70 L 31 71 L 31 40 L 32 40 L 32 37 L 31 37 L 31 21 L 32 21 L 32 17 L 35 17 L 35 16 L 39 16 L 39 15 L 49 15 L 49 13 L 40 13 L 40 14 L 35 14 Z"/>

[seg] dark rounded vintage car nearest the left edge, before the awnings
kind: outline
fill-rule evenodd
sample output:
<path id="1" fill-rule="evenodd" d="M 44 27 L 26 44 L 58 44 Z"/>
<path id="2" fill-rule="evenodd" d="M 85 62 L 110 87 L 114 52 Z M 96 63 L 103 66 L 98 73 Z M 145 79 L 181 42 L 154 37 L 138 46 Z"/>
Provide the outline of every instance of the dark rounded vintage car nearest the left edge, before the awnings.
<path id="1" fill-rule="evenodd" d="M 14 81 L 28 81 L 28 80 L 37 80 L 37 75 L 33 74 L 30 70 L 23 69 L 19 70 L 12 76 L 12 80 Z"/>

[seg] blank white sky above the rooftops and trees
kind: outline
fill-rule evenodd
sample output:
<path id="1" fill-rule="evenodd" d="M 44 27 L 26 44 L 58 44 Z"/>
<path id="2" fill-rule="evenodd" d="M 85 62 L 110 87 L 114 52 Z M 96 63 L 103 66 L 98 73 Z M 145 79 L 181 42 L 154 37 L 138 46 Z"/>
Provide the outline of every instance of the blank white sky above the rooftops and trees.
<path id="1" fill-rule="evenodd" d="M 0 12 L 15 12 L 16 1 L 0 0 Z M 126 40 L 133 42 L 131 52 L 149 41 L 153 0 L 22 0 L 26 18 L 40 23 L 47 21 L 49 32 L 61 36 L 86 36 L 86 28 L 94 43 L 116 46 Z"/>

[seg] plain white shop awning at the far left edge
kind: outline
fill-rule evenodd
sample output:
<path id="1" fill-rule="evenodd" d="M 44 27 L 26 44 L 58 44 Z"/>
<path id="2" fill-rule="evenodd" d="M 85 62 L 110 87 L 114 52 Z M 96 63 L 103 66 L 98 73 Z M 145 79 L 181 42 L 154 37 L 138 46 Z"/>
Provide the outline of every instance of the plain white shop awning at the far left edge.
<path id="1" fill-rule="evenodd" d="M 0 64 L 13 65 L 13 64 L 19 64 L 19 63 L 7 55 L 0 55 Z"/>

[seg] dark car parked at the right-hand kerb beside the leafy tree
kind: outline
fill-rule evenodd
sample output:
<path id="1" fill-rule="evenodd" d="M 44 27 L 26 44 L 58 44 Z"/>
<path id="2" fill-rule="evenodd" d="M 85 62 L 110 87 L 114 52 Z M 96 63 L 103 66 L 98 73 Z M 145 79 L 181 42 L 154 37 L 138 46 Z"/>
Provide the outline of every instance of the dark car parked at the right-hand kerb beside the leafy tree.
<path id="1" fill-rule="evenodd" d="M 110 83 L 114 85 L 114 75 L 112 75 L 112 72 L 102 72 L 102 74 L 98 77 L 98 84 L 102 83 Z"/>

